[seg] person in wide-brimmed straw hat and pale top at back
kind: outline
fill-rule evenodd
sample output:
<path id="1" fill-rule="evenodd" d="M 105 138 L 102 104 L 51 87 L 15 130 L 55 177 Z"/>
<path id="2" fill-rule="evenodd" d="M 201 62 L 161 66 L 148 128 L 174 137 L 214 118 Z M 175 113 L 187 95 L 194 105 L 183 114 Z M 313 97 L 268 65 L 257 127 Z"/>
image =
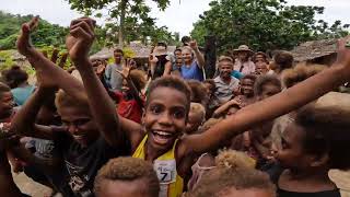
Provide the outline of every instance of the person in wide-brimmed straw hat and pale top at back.
<path id="1" fill-rule="evenodd" d="M 237 49 L 233 50 L 233 54 L 238 58 L 235 60 L 234 70 L 243 74 L 255 73 L 255 65 L 250 61 L 250 57 L 254 51 L 246 45 L 241 45 Z"/>

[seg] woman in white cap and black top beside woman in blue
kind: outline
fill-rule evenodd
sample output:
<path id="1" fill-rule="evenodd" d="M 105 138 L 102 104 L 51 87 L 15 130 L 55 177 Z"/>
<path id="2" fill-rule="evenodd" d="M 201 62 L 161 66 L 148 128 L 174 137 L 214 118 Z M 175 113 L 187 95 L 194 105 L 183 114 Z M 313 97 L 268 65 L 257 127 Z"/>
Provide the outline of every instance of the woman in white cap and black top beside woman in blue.
<path id="1" fill-rule="evenodd" d="M 149 57 L 152 80 L 172 72 L 172 62 L 167 54 L 167 45 L 160 42 Z"/>

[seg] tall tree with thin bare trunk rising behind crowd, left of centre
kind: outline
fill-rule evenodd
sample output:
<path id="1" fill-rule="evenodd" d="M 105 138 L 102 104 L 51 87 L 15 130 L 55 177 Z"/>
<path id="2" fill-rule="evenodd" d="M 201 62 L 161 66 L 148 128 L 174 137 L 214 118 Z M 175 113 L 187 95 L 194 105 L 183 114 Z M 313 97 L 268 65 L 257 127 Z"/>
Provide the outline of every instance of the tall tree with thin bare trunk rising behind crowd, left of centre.
<path id="1" fill-rule="evenodd" d="M 138 21 L 153 23 L 154 19 L 150 16 L 150 8 L 144 0 L 68 0 L 71 8 L 91 15 L 95 11 L 108 10 L 109 20 L 118 22 L 118 43 L 119 47 L 124 45 L 124 33 L 126 20 L 137 19 Z M 170 0 L 152 0 L 156 2 L 160 10 L 165 10 Z M 100 14 L 101 15 L 101 14 Z"/>

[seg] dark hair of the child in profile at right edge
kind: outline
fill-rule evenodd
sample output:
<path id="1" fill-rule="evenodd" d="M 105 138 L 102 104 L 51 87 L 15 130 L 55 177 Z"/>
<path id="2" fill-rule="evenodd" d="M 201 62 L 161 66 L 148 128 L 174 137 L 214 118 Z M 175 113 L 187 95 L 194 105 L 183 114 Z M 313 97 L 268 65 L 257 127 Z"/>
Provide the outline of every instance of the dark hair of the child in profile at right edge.
<path id="1" fill-rule="evenodd" d="M 336 102 L 336 101 L 335 101 Z M 303 148 L 315 155 L 328 154 L 330 169 L 349 170 L 350 111 L 346 107 L 318 106 L 312 103 L 299 111 L 295 124 L 305 131 Z"/>

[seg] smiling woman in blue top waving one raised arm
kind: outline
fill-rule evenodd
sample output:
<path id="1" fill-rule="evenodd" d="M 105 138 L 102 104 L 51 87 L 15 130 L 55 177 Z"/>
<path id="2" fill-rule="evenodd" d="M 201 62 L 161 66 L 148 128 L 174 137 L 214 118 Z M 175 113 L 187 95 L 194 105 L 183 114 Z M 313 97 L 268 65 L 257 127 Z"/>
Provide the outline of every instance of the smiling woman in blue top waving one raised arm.
<path id="1" fill-rule="evenodd" d="M 203 81 L 203 67 L 206 65 L 203 55 L 199 51 L 196 40 L 189 42 L 189 46 L 182 48 L 184 63 L 180 67 L 182 77 L 185 80 Z"/>

